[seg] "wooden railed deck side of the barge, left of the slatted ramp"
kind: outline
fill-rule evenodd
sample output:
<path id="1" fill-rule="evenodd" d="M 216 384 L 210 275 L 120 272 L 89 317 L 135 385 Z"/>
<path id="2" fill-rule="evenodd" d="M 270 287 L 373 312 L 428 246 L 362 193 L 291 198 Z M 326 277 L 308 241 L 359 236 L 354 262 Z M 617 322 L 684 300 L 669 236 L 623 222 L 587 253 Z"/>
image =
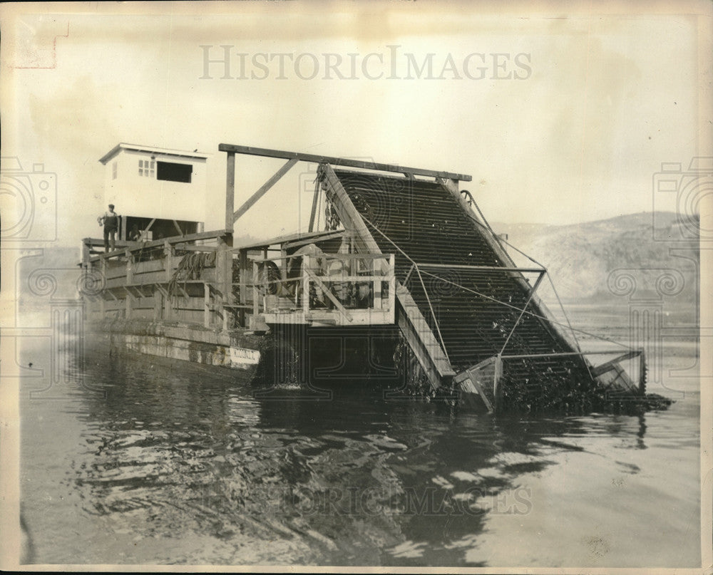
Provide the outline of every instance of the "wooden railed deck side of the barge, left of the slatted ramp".
<path id="1" fill-rule="evenodd" d="M 324 315 L 332 311 L 351 322 L 349 310 L 394 313 L 393 255 L 265 257 L 266 249 L 234 248 L 223 240 L 224 235 L 218 230 L 151 242 L 123 242 L 121 249 L 98 255 L 89 250 L 103 241 L 84 239 L 82 265 L 85 273 L 93 276 L 86 284 L 101 286 L 84 294 L 90 302 L 90 315 L 187 321 L 227 331 L 232 326 L 249 326 L 250 314 L 277 311 L 280 304 L 284 306 L 286 294 L 292 301 L 289 307 L 299 310 L 304 318 L 313 312 Z M 196 244 L 199 240 L 205 243 Z M 202 254 L 196 259 L 200 269 L 187 266 L 191 260 L 183 259 L 186 254 Z M 235 261 L 240 272 L 234 281 Z M 268 261 L 282 269 L 278 278 L 265 273 Z M 320 297 L 315 299 L 315 294 Z"/>

